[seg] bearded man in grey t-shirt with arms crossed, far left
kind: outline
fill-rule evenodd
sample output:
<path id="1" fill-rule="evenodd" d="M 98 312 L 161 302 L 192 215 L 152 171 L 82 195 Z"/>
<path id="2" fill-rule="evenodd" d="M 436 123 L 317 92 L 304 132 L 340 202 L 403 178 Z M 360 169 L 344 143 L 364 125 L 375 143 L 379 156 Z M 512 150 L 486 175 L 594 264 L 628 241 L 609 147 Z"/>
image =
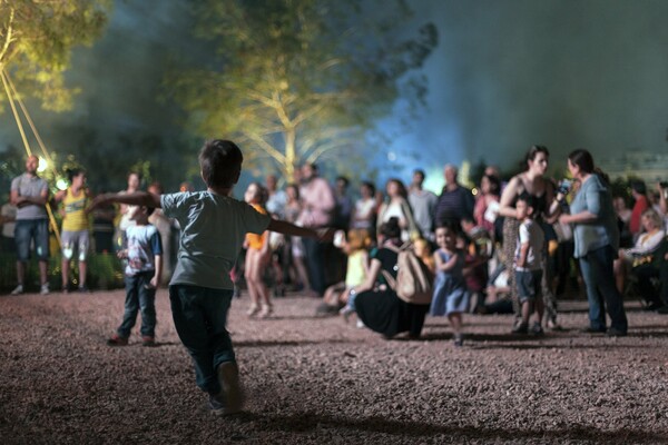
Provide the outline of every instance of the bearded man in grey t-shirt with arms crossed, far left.
<path id="1" fill-rule="evenodd" d="M 39 159 L 29 156 L 26 161 L 26 172 L 11 181 L 10 201 L 18 207 L 14 239 L 17 243 L 17 279 L 18 286 L 11 295 L 24 291 L 26 265 L 30 259 L 30 244 L 39 261 L 40 294 L 49 294 L 47 278 L 47 260 L 49 258 L 49 216 L 47 201 L 49 187 L 47 181 L 37 176 Z"/>

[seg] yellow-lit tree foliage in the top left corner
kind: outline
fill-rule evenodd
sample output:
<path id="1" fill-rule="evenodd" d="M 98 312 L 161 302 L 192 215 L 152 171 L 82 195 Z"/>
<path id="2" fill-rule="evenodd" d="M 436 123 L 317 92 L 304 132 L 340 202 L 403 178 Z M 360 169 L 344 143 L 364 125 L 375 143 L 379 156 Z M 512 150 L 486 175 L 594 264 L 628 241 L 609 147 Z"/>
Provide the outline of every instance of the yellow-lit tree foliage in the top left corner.
<path id="1" fill-rule="evenodd" d="M 0 71 L 19 92 L 46 109 L 71 107 L 77 90 L 65 85 L 71 49 L 91 44 L 107 21 L 110 0 L 0 0 Z M 0 105 L 7 99 L 0 95 Z"/>

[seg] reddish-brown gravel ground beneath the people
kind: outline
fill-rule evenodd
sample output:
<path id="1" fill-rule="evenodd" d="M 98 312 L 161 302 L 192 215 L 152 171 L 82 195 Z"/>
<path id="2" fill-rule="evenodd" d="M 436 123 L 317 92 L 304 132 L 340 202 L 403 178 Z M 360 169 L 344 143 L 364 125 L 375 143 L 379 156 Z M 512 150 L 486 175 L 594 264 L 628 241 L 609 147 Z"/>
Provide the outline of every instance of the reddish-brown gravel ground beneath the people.
<path id="1" fill-rule="evenodd" d="M 158 347 L 109 348 L 121 290 L 0 297 L 1 444 L 632 444 L 668 443 L 668 316 L 628 304 L 629 336 L 508 334 L 509 316 L 466 316 L 454 348 L 444 318 L 423 339 L 384 340 L 314 318 L 291 295 L 275 317 L 229 329 L 247 409 L 216 417 L 158 293 Z"/>

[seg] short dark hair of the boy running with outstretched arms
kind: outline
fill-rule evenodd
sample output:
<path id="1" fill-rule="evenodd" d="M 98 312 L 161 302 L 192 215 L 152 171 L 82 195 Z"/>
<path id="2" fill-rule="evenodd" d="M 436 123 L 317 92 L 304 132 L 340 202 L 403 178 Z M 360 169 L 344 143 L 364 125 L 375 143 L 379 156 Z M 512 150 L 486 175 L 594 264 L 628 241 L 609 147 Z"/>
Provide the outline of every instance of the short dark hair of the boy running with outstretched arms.
<path id="1" fill-rule="evenodd" d="M 207 140 L 199 152 L 202 177 L 207 187 L 230 188 L 242 172 L 244 155 L 230 140 Z"/>

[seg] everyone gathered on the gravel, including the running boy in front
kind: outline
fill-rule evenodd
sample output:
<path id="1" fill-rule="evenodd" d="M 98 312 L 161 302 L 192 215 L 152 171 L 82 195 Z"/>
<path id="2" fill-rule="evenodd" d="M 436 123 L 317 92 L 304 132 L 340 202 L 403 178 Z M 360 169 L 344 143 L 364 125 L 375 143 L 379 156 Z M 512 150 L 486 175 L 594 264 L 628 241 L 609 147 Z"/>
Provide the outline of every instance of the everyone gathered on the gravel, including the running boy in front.
<path id="1" fill-rule="evenodd" d="M 360 327 L 387 338 L 419 337 L 428 315 L 446 316 L 455 346 L 464 342 L 466 313 L 514 314 L 509 329 L 517 335 L 560 329 L 557 297 L 578 278 L 589 301 L 588 333 L 627 335 L 623 295 L 631 287 L 647 309 L 668 313 L 667 185 L 658 185 L 657 196 L 632 182 L 627 206 L 587 150 L 568 156 L 570 179 L 562 181 L 547 176 L 549 151 L 542 146 L 529 149 L 522 172 L 508 182 L 488 167 L 473 190 L 446 165 L 440 195 L 423 188 L 425 172 L 416 169 L 407 187 L 399 178 L 384 190 L 362 181 L 353 197 L 347 178 L 332 186 L 317 166 L 306 164 L 283 186 L 273 175 L 252 182 L 245 204 L 230 198 L 242 160 L 233 142 L 209 141 L 199 156 L 207 191 L 184 185 L 165 194 L 158 182 L 141 191 L 141 178 L 130 174 L 127 189 L 92 199 L 80 169 L 69 171 L 67 190 L 50 197 L 37 175 L 38 159 L 30 156 L 11 184 L 14 212 L 6 218 L 2 210 L 3 221 L 14 225 L 12 295 L 27 290 L 32 249 L 39 290 L 51 291 L 47 202 L 52 202 L 62 216 L 61 291 L 73 290 L 70 261 L 78 265 L 78 290 L 89 293 L 89 253 L 116 253 L 125 260 L 127 297 L 108 344 L 127 345 L 140 313 L 143 344 L 154 346 L 155 291 L 169 283 L 175 325 L 193 356 L 197 384 L 222 413 L 242 404 L 225 330 L 230 298 L 239 291 L 248 293 L 248 317 L 271 317 L 273 297 L 299 290 L 322 298 L 317 315 L 341 314 L 346 322 L 356 315 Z M 11 248 L 4 227 L 2 247 Z M 396 291 L 397 258 L 405 249 L 434 278 L 431 303 Z"/>

